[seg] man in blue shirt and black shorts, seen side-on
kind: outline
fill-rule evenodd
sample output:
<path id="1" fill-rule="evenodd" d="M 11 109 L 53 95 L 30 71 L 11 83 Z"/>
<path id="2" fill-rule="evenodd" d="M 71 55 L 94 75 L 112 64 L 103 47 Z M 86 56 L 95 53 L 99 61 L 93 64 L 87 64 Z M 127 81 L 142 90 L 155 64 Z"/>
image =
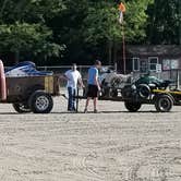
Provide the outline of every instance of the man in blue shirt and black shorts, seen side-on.
<path id="1" fill-rule="evenodd" d="M 96 60 L 95 64 L 88 70 L 88 92 L 87 92 L 87 100 L 85 105 L 84 112 L 87 112 L 89 100 L 93 98 L 94 100 L 94 112 L 97 113 L 97 98 L 98 92 L 100 90 L 100 85 L 98 82 L 98 69 L 100 69 L 101 62 Z"/>

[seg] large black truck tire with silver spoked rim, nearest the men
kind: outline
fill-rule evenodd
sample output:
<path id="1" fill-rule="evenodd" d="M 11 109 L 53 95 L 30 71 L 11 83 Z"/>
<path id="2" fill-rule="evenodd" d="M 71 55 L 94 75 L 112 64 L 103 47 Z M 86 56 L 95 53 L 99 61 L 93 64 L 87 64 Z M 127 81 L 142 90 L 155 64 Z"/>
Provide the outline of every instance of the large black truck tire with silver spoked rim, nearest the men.
<path id="1" fill-rule="evenodd" d="M 53 107 L 50 94 L 44 90 L 36 90 L 29 98 L 28 105 L 34 113 L 49 113 Z"/>

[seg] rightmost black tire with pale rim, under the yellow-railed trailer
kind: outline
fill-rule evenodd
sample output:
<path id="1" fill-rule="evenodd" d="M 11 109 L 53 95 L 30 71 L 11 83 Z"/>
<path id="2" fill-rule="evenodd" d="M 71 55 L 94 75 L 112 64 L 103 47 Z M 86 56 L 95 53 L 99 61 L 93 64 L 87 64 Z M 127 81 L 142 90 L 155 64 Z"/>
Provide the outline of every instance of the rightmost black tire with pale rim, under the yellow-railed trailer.
<path id="1" fill-rule="evenodd" d="M 169 95 L 158 95 L 155 108 L 158 112 L 169 112 L 172 109 L 173 100 Z"/>

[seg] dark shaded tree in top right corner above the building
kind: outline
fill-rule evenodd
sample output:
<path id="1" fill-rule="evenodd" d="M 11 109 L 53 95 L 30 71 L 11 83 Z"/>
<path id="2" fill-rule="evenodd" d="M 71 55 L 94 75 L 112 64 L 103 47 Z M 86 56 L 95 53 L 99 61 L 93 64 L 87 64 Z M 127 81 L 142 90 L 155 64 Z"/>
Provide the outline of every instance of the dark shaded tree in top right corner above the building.
<path id="1" fill-rule="evenodd" d="M 181 44 L 180 0 L 155 0 L 148 9 L 150 44 Z"/>

